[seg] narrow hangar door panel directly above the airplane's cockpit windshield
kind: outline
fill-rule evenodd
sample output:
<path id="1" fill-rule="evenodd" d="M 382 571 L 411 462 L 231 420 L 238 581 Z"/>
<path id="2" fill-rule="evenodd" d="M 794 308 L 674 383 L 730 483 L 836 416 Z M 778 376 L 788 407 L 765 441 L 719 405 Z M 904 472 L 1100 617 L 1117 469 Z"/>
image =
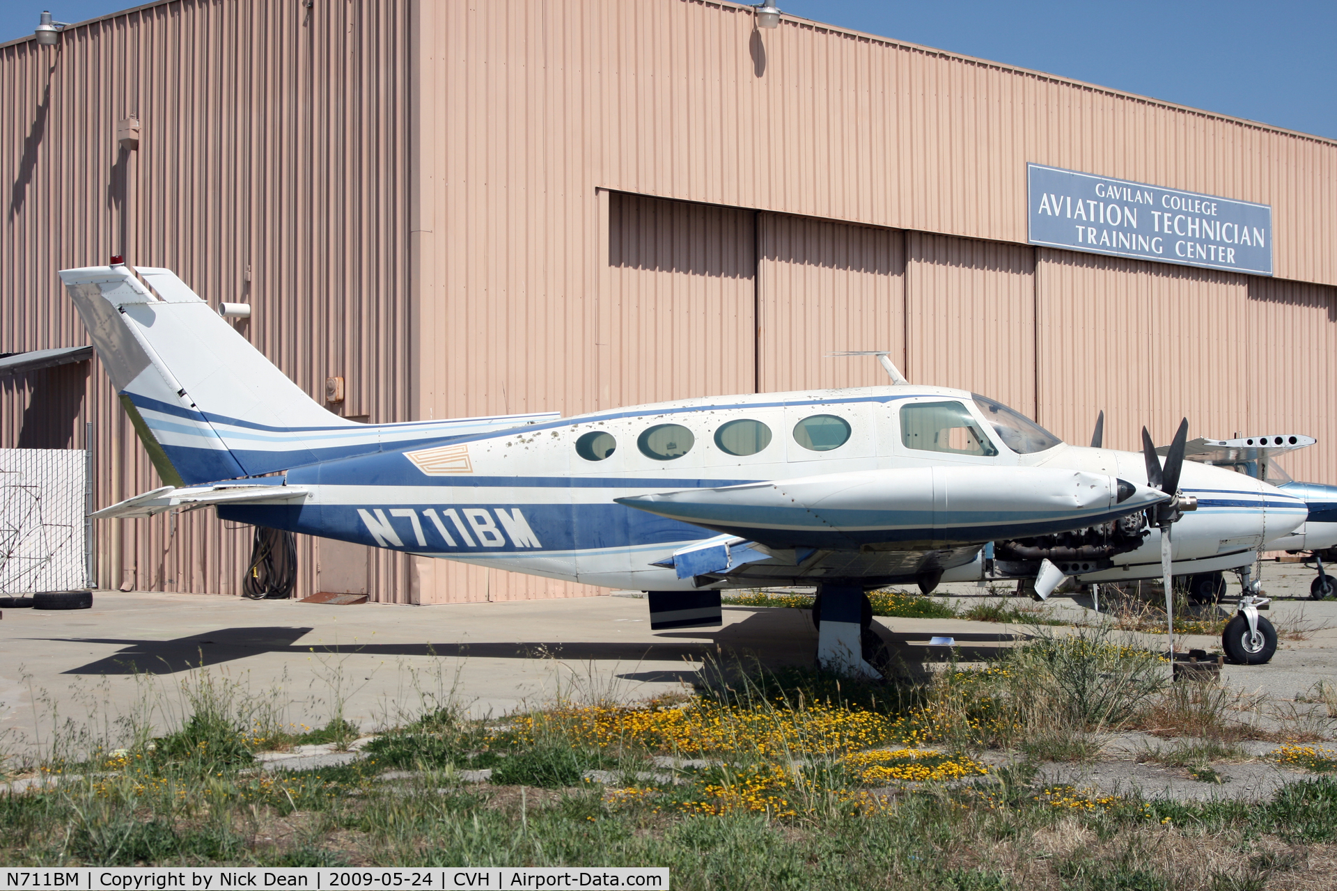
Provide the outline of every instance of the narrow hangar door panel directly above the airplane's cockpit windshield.
<path id="1" fill-rule="evenodd" d="M 906 232 L 905 377 L 1035 417 L 1035 248 Z"/>

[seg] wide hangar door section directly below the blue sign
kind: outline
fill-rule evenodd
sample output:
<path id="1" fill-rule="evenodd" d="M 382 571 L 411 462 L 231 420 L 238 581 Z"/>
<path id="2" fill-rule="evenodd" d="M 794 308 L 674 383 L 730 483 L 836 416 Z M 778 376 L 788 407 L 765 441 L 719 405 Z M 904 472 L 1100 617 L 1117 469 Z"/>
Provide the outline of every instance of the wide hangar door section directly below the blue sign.
<path id="1" fill-rule="evenodd" d="M 1087 442 L 1103 407 L 1115 449 L 1183 417 L 1190 437 L 1304 433 L 1318 445 L 1282 464 L 1332 476 L 1337 289 L 1048 248 L 1038 281 L 1040 423 Z"/>

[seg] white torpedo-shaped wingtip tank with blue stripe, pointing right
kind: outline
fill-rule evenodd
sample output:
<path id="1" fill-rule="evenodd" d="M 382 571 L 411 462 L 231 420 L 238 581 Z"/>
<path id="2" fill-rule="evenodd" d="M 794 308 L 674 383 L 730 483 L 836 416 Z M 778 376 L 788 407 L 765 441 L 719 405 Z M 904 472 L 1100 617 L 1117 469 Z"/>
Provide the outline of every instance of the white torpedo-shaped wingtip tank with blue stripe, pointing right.
<path id="1" fill-rule="evenodd" d="M 1158 489 L 1106 474 L 981 466 L 829 473 L 616 498 L 767 549 L 796 550 L 983 544 L 1083 529 L 1167 500 Z M 714 545 L 713 556 L 699 560 L 718 564 L 722 549 Z"/>

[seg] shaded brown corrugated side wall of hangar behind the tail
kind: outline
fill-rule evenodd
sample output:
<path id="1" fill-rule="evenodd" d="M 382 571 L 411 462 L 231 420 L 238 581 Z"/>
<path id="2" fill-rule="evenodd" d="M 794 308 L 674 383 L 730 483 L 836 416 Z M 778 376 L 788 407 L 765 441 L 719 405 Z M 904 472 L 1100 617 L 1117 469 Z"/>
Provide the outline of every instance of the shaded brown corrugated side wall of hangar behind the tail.
<path id="1" fill-rule="evenodd" d="M 398 0 L 180 0 L 0 48 L 0 349 L 86 343 L 56 271 L 124 252 L 251 303 L 243 333 L 308 393 L 342 375 L 342 413 L 405 419 L 406 48 Z M 127 115 L 138 151 L 115 142 Z M 55 374 L 4 383 L 0 445 L 33 435 L 23 390 Z M 94 422 L 99 505 L 159 485 L 96 362 L 87 379 L 44 435 Z M 98 550 L 103 586 L 235 593 L 250 540 L 198 512 L 102 521 Z M 303 540 L 302 593 L 313 558 Z M 374 596 L 406 597 L 405 568 L 381 552 Z"/>

